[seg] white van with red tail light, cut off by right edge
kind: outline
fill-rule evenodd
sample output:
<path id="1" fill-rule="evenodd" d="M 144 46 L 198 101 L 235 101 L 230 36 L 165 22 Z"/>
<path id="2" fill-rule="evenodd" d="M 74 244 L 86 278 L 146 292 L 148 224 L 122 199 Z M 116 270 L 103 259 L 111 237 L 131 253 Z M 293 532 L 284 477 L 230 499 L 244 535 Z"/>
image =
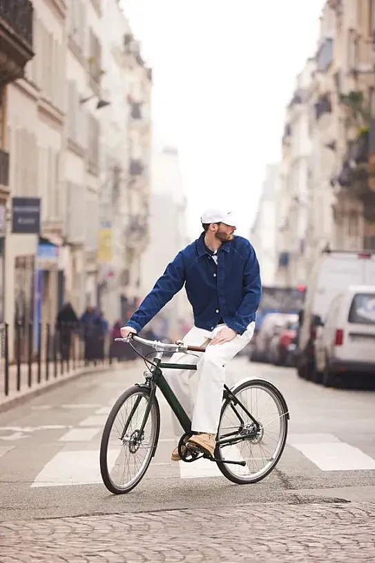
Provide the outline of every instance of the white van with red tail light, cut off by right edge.
<path id="1" fill-rule="evenodd" d="M 339 374 L 375 376 L 375 285 L 351 285 L 331 302 L 316 334 L 316 371 L 324 385 Z"/>

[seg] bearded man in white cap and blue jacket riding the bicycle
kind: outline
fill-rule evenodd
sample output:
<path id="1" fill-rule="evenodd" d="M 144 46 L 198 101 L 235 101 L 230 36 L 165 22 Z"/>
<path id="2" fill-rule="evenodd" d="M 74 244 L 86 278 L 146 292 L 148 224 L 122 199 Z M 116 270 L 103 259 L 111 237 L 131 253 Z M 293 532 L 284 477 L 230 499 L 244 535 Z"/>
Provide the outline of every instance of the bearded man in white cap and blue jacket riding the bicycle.
<path id="1" fill-rule="evenodd" d="M 152 291 L 131 316 L 122 336 L 138 333 L 185 285 L 193 307 L 194 326 L 184 337 L 186 345 L 204 346 L 199 359 L 174 354 L 172 363 L 197 363 L 198 390 L 194 408 L 189 394 L 191 371 L 166 370 L 166 379 L 191 417 L 189 443 L 213 456 L 218 431 L 224 367 L 253 336 L 256 312 L 262 294 L 258 258 L 246 238 L 235 236 L 231 211 L 209 209 L 201 218 L 200 237 L 180 251 L 166 267 Z M 175 436 L 181 426 L 173 415 Z M 172 460 L 179 461 L 178 448 Z"/>

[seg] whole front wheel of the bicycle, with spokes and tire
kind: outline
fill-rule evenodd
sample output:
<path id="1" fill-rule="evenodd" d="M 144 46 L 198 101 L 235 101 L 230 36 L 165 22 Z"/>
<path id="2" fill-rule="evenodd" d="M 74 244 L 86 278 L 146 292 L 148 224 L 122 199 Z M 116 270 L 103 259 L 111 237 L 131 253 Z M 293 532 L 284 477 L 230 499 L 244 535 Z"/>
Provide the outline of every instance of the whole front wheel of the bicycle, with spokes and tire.
<path id="1" fill-rule="evenodd" d="M 137 486 L 155 454 L 159 433 L 160 408 L 151 390 L 135 385 L 125 391 L 110 411 L 100 444 L 100 472 L 110 493 L 123 495 Z"/>

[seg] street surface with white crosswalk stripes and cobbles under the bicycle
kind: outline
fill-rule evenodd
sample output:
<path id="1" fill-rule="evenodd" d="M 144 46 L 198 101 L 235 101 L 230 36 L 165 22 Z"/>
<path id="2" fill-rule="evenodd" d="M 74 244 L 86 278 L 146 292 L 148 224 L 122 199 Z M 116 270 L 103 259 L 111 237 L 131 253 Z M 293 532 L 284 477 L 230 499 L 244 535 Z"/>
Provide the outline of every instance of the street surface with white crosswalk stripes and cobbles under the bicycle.
<path id="1" fill-rule="evenodd" d="M 113 496 L 99 475 L 102 428 L 142 370 L 82 376 L 0 414 L 0 563 L 374 561 L 374 392 L 326 389 L 294 370 L 235 360 L 230 383 L 264 376 L 287 399 L 289 439 L 276 470 L 237 486 L 209 461 L 173 463 L 160 400 L 148 473 Z"/>

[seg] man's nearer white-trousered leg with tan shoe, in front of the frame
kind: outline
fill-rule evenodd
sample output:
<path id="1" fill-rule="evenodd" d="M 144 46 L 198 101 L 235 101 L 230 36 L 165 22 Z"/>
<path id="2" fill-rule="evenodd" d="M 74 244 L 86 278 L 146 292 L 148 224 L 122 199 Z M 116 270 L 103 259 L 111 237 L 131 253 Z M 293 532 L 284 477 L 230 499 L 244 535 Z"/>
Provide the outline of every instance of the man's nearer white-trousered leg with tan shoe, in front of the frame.
<path id="1" fill-rule="evenodd" d="M 235 336 L 232 341 L 207 346 L 198 362 L 199 381 L 191 426 L 195 435 L 191 441 L 202 446 L 211 455 L 215 450 L 222 407 L 225 365 L 251 341 L 253 332 L 254 323 L 251 323 L 244 334 Z"/>

